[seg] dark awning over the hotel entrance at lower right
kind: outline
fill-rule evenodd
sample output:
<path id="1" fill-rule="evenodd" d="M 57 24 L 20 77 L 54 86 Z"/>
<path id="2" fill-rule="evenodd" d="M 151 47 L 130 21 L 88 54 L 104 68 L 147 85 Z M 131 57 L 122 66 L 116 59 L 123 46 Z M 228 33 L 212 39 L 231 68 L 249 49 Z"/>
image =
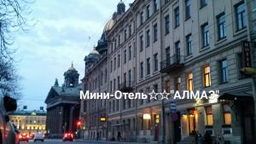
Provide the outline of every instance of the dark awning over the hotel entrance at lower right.
<path id="1" fill-rule="evenodd" d="M 230 100 L 230 101 L 247 101 L 252 100 L 253 95 L 245 92 L 238 93 L 224 93 L 218 97 L 218 100 Z"/>

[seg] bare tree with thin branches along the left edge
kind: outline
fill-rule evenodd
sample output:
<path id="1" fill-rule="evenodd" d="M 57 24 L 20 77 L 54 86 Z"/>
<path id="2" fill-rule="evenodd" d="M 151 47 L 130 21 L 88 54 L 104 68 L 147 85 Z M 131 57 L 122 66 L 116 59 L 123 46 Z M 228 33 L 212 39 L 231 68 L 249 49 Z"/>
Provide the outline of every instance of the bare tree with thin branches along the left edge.
<path id="1" fill-rule="evenodd" d="M 13 55 L 15 32 L 27 27 L 26 16 L 30 14 L 26 0 L 0 0 L 0 97 L 20 97 L 19 76 L 15 71 Z"/>

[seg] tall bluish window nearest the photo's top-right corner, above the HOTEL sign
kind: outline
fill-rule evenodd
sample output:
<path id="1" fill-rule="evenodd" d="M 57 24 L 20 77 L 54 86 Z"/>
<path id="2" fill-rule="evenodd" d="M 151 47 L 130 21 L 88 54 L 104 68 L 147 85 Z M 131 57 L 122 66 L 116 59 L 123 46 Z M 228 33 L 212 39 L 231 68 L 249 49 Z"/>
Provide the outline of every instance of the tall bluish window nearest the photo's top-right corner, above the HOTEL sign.
<path id="1" fill-rule="evenodd" d="M 247 26 L 245 3 L 242 2 L 237 4 L 235 9 L 236 9 L 236 29 L 237 31 L 239 31 Z"/>

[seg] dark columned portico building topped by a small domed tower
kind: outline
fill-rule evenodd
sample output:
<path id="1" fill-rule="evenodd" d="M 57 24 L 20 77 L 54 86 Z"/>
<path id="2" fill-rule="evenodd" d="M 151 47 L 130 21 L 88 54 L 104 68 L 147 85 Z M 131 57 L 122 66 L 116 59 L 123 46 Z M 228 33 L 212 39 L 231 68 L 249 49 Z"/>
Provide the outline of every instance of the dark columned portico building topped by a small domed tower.
<path id="1" fill-rule="evenodd" d="M 61 138 L 64 132 L 76 132 L 79 120 L 80 99 L 79 72 L 73 63 L 64 72 L 64 84 L 59 85 L 58 79 L 49 89 L 45 99 L 47 105 L 46 131 L 50 138 Z"/>

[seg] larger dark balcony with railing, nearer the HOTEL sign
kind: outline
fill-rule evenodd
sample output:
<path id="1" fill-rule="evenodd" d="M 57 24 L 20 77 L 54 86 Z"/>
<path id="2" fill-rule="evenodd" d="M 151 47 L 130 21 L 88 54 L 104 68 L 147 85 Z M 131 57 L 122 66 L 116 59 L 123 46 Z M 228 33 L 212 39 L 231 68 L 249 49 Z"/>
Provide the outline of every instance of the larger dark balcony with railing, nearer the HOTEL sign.
<path id="1" fill-rule="evenodd" d="M 183 55 L 173 55 L 172 57 L 161 61 L 160 63 L 162 73 L 175 72 L 184 66 L 184 56 Z"/>

